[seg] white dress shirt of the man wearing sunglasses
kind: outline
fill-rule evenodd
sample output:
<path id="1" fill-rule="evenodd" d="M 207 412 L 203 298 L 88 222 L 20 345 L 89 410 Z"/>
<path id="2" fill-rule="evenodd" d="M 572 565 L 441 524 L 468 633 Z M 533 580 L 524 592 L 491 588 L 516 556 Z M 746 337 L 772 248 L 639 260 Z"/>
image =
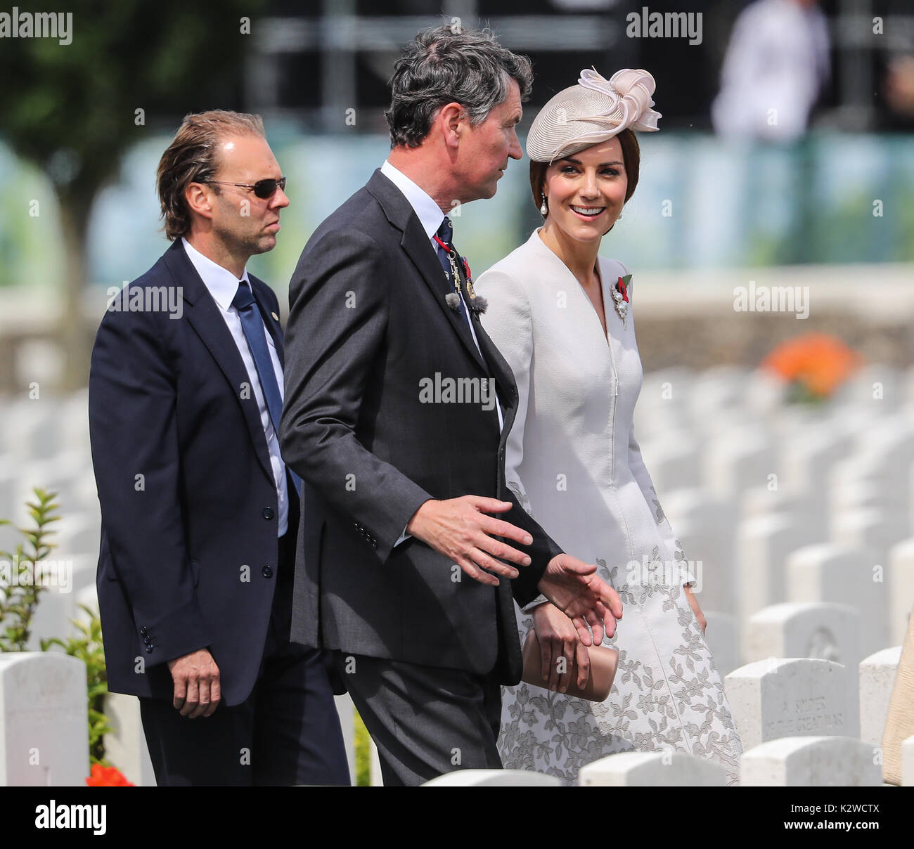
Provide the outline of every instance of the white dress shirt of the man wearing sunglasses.
<path id="1" fill-rule="evenodd" d="M 199 250 L 195 249 L 187 239 L 182 238 L 187 259 L 191 261 L 200 280 L 207 287 L 207 291 L 213 296 L 213 300 L 222 313 L 225 323 L 228 326 L 228 332 L 235 340 L 241 359 L 244 360 L 244 367 L 248 370 L 250 377 L 250 386 L 254 390 L 254 398 L 257 399 L 257 409 L 260 410 L 260 424 L 263 425 L 263 433 L 267 438 L 267 451 L 270 451 L 270 464 L 273 470 L 273 479 L 276 482 L 276 496 L 279 505 L 279 524 L 277 535 L 282 536 L 286 532 L 289 524 L 289 492 L 286 486 L 285 463 L 280 456 L 280 441 L 276 437 L 276 430 L 270 418 L 270 409 L 267 407 L 266 398 L 263 396 L 263 390 L 260 388 L 260 377 L 257 374 L 257 366 L 254 364 L 254 356 L 250 353 L 248 339 L 244 335 L 241 327 L 241 319 L 238 310 L 231 305 L 235 300 L 238 292 L 238 284 L 241 281 L 250 286 L 248 279 L 248 270 L 245 269 L 241 275 L 241 281 L 232 274 L 228 269 L 222 268 L 221 265 L 205 257 Z M 276 353 L 276 345 L 273 343 L 273 337 L 270 331 L 264 326 L 263 333 L 267 337 L 267 348 L 270 351 L 270 359 L 273 364 L 273 372 L 276 375 L 276 383 L 280 387 L 280 398 L 282 398 L 282 366 L 280 365 L 279 355 Z"/>

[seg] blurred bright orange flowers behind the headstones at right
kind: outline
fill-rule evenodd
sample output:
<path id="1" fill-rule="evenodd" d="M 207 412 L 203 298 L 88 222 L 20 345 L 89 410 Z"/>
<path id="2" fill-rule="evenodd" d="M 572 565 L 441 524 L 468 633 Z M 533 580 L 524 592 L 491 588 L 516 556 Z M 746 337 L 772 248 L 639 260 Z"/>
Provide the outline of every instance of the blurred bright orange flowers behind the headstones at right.
<path id="1" fill-rule="evenodd" d="M 806 334 L 778 345 L 761 363 L 810 395 L 826 398 L 859 366 L 861 357 L 840 339 Z"/>

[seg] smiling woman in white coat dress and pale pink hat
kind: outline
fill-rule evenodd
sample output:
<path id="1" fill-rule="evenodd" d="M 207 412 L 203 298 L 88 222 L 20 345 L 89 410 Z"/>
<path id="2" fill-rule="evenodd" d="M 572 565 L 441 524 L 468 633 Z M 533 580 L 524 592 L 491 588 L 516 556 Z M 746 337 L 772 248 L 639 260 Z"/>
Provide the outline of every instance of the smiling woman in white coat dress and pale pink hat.
<path id="1" fill-rule="evenodd" d="M 632 278 L 598 256 L 638 181 L 632 130 L 656 130 L 654 78 L 582 71 L 537 115 L 527 138 L 530 185 L 545 221 L 476 282 L 483 323 L 514 370 L 517 416 L 506 480 L 558 545 L 596 563 L 622 598 L 604 641 L 619 651 L 610 695 L 594 703 L 556 689 L 505 688 L 499 748 L 506 768 L 575 783 L 619 751 L 685 751 L 717 760 L 736 783 L 742 749 L 708 651 L 685 554 L 654 492 L 632 430 L 642 385 Z M 545 599 L 518 613 L 544 663 L 570 670 L 577 637 Z"/>

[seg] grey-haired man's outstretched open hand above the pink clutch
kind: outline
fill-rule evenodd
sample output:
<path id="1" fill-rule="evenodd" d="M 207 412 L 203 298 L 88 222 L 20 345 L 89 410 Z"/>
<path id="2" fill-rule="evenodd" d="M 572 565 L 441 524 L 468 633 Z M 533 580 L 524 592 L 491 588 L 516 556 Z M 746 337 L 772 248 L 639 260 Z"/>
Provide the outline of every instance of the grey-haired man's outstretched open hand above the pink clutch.
<path id="1" fill-rule="evenodd" d="M 596 565 L 569 554 L 556 555 L 537 586 L 574 623 L 584 645 L 600 645 L 604 629 L 609 637 L 616 632 L 616 620 L 622 619 L 622 599 L 597 575 Z"/>

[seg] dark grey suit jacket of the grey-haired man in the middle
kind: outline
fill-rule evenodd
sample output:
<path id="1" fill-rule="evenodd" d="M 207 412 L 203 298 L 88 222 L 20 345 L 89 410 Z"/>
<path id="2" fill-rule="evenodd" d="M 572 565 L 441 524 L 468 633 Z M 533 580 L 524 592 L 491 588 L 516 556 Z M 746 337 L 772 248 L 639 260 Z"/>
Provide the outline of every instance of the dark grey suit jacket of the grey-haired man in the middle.
<path id="1" fill-rule="evenodd" d="M 535 598 L 561 549 L 505 487 L 511 370 L 473 317 L 480 356 L 447 293 L 419 218 L 379 171 L 314 232 L 292 275 L 280 427 L 304 481 L 292 638 L 476 674 L 497 664 L 515 683 L 512 594 Z M 489 380 L 501 432 L 478 392 Z M 423 502 L 465 494 L 515 503 L 501 517 L 534 541 L 514 581 L 480 584 L 415 538 L 395 547 Z"/>

